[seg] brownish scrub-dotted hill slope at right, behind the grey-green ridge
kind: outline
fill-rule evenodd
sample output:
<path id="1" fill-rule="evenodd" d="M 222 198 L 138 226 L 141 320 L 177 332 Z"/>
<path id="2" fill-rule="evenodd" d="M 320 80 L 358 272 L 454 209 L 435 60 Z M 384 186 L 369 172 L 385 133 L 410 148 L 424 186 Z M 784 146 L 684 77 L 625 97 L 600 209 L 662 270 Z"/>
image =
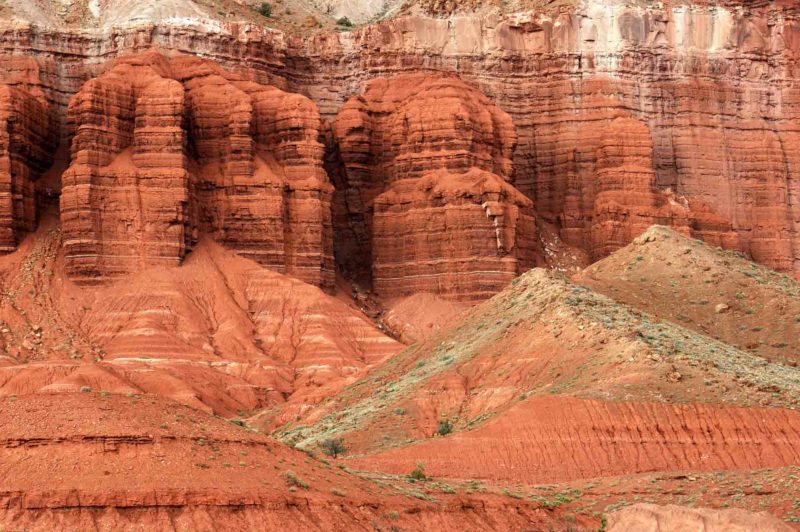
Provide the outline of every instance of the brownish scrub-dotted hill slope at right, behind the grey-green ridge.
<path id="1" fill-rule="evenodd" d="M 800 284 L 737 253 L 653 227 L 576 281 L 769 360 L 800 363 Z"/>

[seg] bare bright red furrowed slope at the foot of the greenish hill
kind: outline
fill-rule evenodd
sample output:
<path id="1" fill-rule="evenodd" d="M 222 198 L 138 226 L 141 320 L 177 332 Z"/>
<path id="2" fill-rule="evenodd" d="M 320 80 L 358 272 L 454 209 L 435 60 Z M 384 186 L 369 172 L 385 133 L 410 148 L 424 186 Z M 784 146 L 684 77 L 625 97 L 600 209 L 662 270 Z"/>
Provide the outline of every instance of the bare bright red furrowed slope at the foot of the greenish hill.
<path id="1" fill-rule="evenodd" d="M 652 471 L 800 464 L 800 412 L 534 397 L 480 427 L 365 458 L 356 469 L 546 484 Z"/>

